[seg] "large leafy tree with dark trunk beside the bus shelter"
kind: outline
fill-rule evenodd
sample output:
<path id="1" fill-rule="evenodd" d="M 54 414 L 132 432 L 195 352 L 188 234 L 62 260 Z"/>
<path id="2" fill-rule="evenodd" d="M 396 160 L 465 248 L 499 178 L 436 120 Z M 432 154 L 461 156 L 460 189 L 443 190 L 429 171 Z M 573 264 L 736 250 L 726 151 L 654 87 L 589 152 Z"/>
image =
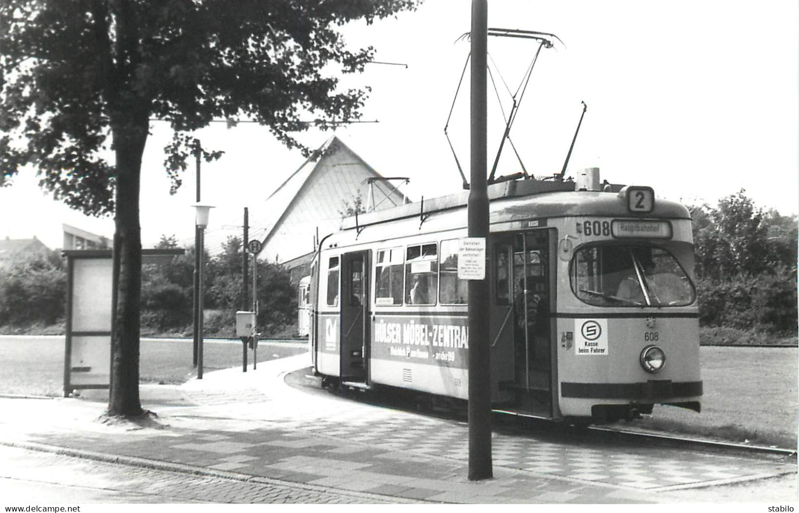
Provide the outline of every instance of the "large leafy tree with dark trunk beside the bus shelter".
<path id="1" fill-rule="evenodd" d="M 325 66 L 363 70 L 339 27 L 412 9 L 415 0 L 0 0 L 0 182 L 23 165 L 85 213 L 113 213 L 117 308 L 109 415 L 139 400 L 141 158 L 151 118 L 169 121 L 173 189 L 215 118 L 266 125 L 290 148 L 301 121 L 358 117 L 365 92 L 336 91 Z M 332 121 L 333 120 L 333 121 Z M 113 155 L 113 163 L 108 159 Z M 307 153 L 307 149 L 304 149 Z M 203 153 L 216 157 L 213 152 Z"/>

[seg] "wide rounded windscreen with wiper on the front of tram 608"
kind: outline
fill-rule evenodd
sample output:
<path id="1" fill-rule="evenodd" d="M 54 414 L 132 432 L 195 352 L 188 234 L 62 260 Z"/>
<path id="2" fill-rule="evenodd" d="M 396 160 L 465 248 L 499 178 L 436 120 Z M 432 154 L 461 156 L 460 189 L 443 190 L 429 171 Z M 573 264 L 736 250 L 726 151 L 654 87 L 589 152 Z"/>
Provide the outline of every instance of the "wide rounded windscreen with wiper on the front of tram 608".
<path id="1" fill-rule="evenodd" d="M 571 289 L 596 306 L 685 306 L 696 292 L 665 249 L 648 245 L 594 245 L 574 253 Z"/>

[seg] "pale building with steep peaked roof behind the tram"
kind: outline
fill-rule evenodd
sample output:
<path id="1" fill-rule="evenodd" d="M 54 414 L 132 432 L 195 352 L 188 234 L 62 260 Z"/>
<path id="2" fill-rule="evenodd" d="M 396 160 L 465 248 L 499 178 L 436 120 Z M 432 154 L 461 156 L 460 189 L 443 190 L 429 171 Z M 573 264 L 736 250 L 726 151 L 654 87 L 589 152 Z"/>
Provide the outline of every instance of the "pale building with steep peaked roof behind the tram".
<path id="1" fill-rule="evenodd" d="M 333 136 L 255 209 L 249 238 L 263 242 L 260 259 L 285 264 L 299 282 L 316 241 L 338 230 L 348 209 L 360 205 L 371 212 L 407 203 L 397 189 L 401 181 L 381 176 Z"/>

